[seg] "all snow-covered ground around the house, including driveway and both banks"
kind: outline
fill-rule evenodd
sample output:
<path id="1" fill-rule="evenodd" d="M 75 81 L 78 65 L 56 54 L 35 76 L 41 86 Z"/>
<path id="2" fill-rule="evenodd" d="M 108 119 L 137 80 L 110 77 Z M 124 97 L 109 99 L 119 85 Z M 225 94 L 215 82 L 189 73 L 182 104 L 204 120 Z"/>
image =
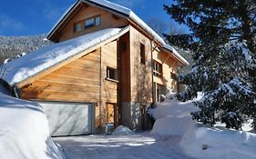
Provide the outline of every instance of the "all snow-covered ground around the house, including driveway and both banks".
<path id="1" fill-rule="evenodd" d="M 0 85 L 0 158 L 62 159 L 35 103 L 4 94 Z M 191 120 L 192 102 L 166 100 L 151 113 L 151 132 L 119 126 L 111 135 L 56 137 L 67 159 L 255 159 L 256 134 L 208 127 Z"/>

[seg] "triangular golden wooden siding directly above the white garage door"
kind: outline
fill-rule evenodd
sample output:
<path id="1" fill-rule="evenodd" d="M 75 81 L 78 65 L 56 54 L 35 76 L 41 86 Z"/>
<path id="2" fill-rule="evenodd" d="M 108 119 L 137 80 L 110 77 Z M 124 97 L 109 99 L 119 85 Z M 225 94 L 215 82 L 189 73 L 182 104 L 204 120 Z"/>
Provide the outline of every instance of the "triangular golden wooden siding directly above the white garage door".
<path id="1" fill-rule="evenodd" d="M 100 49 L 45 75 L 22 89 L 22 98 L 46 101 L 99 100 Z"/>

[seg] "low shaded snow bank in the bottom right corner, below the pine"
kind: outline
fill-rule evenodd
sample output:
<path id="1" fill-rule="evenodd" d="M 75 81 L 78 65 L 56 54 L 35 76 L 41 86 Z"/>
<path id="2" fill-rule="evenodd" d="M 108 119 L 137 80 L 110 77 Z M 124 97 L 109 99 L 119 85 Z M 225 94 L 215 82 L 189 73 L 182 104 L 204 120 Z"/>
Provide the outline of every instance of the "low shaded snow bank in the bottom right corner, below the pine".
<path id="1" fill-rule="evenodd" d="M 180 145 L 186 154 L 197 158 L 256 158 L 256 134 L 248 132 L 198 127 L 183 135 Z"/>

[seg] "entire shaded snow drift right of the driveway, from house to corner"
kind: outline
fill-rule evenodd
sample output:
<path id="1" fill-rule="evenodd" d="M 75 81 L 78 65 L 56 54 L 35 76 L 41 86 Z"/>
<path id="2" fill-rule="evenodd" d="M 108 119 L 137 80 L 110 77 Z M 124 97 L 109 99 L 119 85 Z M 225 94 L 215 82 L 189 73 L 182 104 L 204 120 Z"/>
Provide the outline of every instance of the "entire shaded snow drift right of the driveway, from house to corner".
<path id="1" fill-rule="evenodd" d="M 157 119 L 151 134 L 180 135 L 179 145 L 191 157 L 203 159 L 255 159 L 256 134 L 207 127 L 191 120 L 193 103 L 166 100 L 152 114 Z"/>

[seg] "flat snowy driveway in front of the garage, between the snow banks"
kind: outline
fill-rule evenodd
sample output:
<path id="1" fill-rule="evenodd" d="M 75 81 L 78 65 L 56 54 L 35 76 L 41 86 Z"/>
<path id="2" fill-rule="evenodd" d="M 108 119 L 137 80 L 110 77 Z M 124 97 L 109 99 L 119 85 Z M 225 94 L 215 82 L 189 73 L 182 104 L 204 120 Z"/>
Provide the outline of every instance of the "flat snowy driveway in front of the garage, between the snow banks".
<path id="1" fill-rule="evenodd" d="M 149 134 L 57 137 L 67 159 L 191 159 L 179 148 L 179 136 Z"/>

